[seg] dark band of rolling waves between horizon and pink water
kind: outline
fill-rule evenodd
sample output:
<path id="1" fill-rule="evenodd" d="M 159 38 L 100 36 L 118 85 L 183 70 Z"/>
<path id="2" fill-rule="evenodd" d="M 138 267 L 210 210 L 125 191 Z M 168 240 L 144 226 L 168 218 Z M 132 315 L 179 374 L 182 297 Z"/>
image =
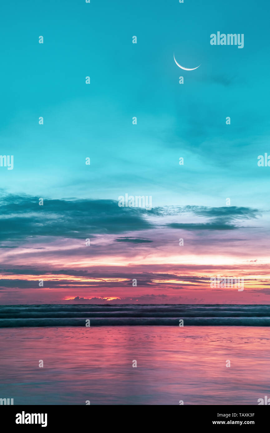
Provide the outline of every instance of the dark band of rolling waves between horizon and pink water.
<path id="1" fill-rule="evenodd" d="M 18 326 L 270 326 L 269 305 L 1 305 L 0 328 Z"/>

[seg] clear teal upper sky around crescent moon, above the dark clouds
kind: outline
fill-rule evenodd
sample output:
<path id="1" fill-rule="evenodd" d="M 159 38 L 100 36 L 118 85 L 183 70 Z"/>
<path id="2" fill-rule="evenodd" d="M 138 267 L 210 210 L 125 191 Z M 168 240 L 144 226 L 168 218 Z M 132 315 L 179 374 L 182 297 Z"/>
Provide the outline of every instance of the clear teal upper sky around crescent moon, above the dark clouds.
<path id="1" fill-rule="evenodd" d="M 1 153 L 14 155 L 14 169 L 0 171 L 2 187 L 54 198 L 145 194 L 155 206 L 222 206 L 230 197 L 236 206 L 264 207 L 269 173 L 257 167 L 257 156 L 269 149 L 270 126 L 263 6 L 5 5 Z M 211 46 L 217 31 L 244 33 L 244 48 Z M 173 52 L 180 64 L 200 68 L 182 71 Z"/>

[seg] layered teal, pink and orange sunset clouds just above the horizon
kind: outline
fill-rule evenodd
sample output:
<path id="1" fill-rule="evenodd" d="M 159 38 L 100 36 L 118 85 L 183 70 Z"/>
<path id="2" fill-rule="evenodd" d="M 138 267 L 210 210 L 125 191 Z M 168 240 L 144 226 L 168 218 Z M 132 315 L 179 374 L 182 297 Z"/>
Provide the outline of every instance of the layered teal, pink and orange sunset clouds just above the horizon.
<path id="1" fill-rule="evenodd" d="M 8 194 L 1 198 L 0 211 L 3 303 L 135 298 L 173 303 L 180 299 L 176 291 L 181 302 L 226 303 L 228 294 L 243 302 L 237 291 L 210 288 L 210 277 L 218 273 L 245 278 L 247 303 L 256 290 L 263 296 L 260 302 L 269 293 L 264 249 L 253 249 L 252 257 L 246 251 L 247 239 L 254 243 L 263 224 L 257 209 L 168 206 L 149 211 L 119 207 L 117 200 L 75 198 L 44 199 L 39 206 L 39 197 Z M 237 236 L 228 237 L 228 230 Z M 149 288 L 158 293 L 150 296 Z"/>

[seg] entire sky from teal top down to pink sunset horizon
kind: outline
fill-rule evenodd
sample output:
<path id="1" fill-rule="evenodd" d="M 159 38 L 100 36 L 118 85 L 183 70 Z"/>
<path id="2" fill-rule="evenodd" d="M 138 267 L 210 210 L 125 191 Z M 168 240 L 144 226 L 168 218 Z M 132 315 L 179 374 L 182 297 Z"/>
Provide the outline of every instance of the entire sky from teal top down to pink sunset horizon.
<path id="1" fill-rule="evenodd" d="M 3 6 L 0 304 L 269 303 L 267 5 Z"/>

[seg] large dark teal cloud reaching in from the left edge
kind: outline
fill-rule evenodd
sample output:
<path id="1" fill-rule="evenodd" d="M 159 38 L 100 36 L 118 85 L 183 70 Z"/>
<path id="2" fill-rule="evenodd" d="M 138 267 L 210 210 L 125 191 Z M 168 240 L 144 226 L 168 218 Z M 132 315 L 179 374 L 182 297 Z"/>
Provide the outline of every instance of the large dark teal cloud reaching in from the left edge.
<path id="1" fill-rule="evenodd" d="M 0 201 L 0 240 L 33 236 L 86 239 L 97 233 L 145 230 L 152 227 L 146 220 L 149 212 L 119 207 L 114 200 L 44 199 L 43 206 L 39 206 L 39 197 L 10 194 Z"/>

